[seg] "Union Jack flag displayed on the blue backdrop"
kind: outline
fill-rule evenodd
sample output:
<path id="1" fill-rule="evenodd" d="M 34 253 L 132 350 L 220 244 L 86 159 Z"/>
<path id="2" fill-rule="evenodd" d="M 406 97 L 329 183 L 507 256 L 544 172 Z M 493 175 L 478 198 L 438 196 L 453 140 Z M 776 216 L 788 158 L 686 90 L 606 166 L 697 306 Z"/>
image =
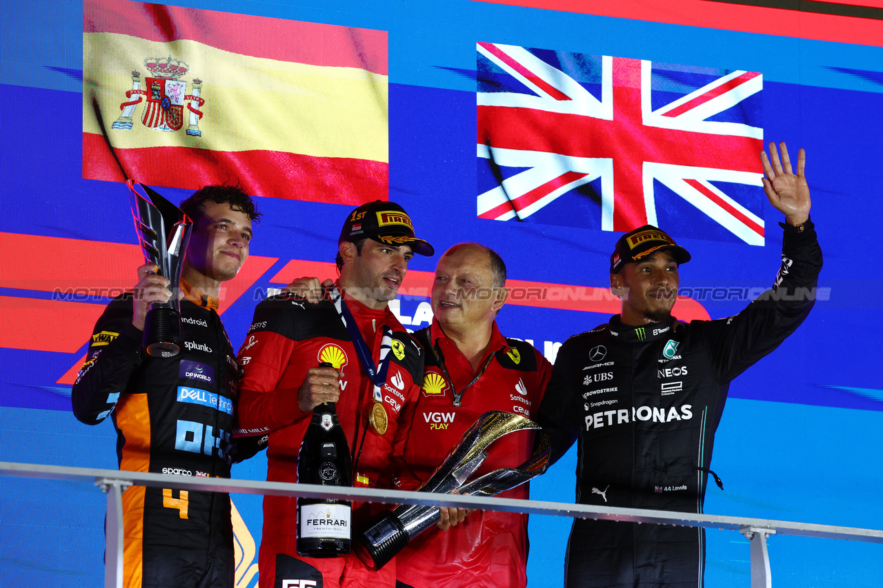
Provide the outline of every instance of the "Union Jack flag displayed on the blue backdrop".
<path id="1" fill-rule="evenodd" d="M 764 245 L 760 73 L 477 49 L 479 218 Z"/>

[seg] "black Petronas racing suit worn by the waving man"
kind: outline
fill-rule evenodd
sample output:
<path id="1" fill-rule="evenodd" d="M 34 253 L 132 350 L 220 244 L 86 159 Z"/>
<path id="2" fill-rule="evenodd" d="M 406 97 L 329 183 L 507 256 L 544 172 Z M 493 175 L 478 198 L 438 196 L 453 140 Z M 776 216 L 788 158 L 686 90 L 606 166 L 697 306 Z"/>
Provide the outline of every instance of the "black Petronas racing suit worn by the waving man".
<path id="1" fill-rule="evenodd" d="M 812 223 L 803 232 L 785 226 L 774 288 L 741 313 L 639 328 L 617 315 L 570 337 L 540 423 L 552 435 L 553 459 L 579 439 L 577 502 L 701 513 L 729 382 L 803 322 L 821 265 Z M 698 528 L 576 519 L 565 584 L 701 586 L 704 539 Z"/>

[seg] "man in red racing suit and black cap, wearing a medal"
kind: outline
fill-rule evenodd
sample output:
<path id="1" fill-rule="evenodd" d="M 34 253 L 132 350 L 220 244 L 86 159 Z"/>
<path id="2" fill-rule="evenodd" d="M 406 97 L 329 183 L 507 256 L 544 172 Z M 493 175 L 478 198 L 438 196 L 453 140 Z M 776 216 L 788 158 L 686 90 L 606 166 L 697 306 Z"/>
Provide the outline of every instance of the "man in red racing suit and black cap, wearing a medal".
<path id="1" fill-rule="evenodd" d="M 310 302 L 285 294 L 258 305 L 239 351 L 245 373 L 237 424 L 238 434 L 269 433 L 268 480 L 297 481 L 298 450 L 313 408 L 334 402 L 351 444 L 354 486 L 390 486 L 390 456 L 396 445 L 400 450 L 411 423 L 423 351 L 387 305 L 414 253 L 434 251 L 414 237 L 402 207 L 377 200 L 356 208 L 344 222 L 340 277 L 324 298 Z M 333 367 L 318 367 L 322 362 Z M 376 368 L 374 381 L 366 364 Z M 353 526 L 383 508 L 354 504 Z M 299 557 L 296 525 L 296 499 L 264 497 L 261 588 L 395 584 L 395 565 L 374 572 L 355 554 Z"/>

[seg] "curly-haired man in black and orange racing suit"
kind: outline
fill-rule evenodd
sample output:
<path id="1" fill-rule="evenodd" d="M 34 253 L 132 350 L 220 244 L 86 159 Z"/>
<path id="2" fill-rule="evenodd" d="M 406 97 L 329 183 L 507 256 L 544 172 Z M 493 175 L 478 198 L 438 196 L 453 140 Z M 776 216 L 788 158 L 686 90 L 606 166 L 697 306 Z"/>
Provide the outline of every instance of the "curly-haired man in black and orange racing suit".
<path id="1" fill-rule="evenodd" d="M 230 464 L 257 446 L 236 455 L 231 444 L 238 366 L 217 298 L 245 262 L 260 213 L 229 186 L 207 186 L 181 208 L 193 220 L 181 279 L 185 349 L 174 358 L 142 350 L 148 305 L 172 295 L 169 280 L 145 264 L 132 292 L 111 301 L 95 324 L 73 412 L 88 425 L 113 419 L 121 470 L 229 478 Z M 232 587 L 228 494 L 131 486 L 123 516 L 126 588 Z"/>

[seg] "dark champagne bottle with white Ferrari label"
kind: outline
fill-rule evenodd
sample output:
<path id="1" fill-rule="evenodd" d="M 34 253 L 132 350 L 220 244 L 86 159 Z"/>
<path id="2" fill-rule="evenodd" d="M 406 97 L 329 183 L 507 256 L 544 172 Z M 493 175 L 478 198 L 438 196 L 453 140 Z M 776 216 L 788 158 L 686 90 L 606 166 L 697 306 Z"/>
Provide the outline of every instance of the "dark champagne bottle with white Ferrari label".
<path id="1" fill-rule="evenodd" d="M 320 367 L 332 367 L 323 362 Z M 351 486 L 350 444 L 337 419 L 335 403 L 313 409 L 298 454 L 298 482 Z M 336 557 L 349 554 L 351 502 L 298 498 L 298 555 Z"/>

